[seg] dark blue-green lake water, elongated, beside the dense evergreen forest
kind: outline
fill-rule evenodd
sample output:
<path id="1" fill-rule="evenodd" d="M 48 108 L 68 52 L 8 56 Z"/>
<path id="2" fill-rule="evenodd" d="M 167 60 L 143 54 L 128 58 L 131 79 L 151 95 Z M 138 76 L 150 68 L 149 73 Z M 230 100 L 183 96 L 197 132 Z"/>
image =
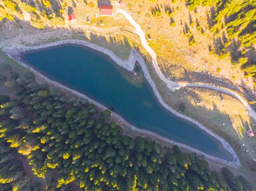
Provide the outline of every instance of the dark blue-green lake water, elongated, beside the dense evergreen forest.
<path id="1" fill-rule="evenodd" d="M 27 52 L 25 63 L 71 89 L 100 102 L 137 128 L 189 145 L 204 153 L 232 160 L 214 137 L 177 118 L 160 105 L 144 80 L 134 85 L 108 56 L 73 44 Z"/>

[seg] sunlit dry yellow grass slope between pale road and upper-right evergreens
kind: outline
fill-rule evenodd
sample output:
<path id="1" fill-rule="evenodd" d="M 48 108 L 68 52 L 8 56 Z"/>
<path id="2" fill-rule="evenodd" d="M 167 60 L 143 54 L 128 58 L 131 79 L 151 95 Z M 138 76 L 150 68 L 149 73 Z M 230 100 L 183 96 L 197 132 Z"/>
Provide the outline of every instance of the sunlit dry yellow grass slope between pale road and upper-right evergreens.
<path id="1" fill-rule="evenodd" d="M 245 79 L 243 71 L 232 67 L 230 58 L 220 60 L 209 54 L 209 46 L 214 43 L 213 34 L 207 29 L 206 15 L 210 12 L 210 7 L 200 6 L 195 13 L 187 9 L 185 1 L 177 1 L 175 4 L 166 0 L 140 1 L 136 5 L 133 0 L 126 2 L 126 9 L 129 9 L 129 12 L 141 25 L 146 36 L 150 35 L 151 40 L 148 42 L 158 54 L 159 60 L 162 60 L 161 63 L 166 63 L 161 65 L 164 71 L 178 67 L 181 71 L 185 68 L 189 73 L 210 72 L 215 77 L 228 79 L 239 85 L 243 80 L 243 83 L 253 88 L 251 79 Z M 162 15 L 153 16 L 151 9 L 157 5 L 160 7 Z M 172 18 L 165 13 L 164 7 L 172 9 Z M 170 22 L 173 21 L 176 26 L 170 26 Z M 201 30 L 197 30 L 197 22 L 205 34 L 202 34 Z M 183 34 L 186 25 L 195 38 L 196 44 L 192 46 L 189 46 L 189 40 Z M 220 72 L 217 71 L 218 68 L 221 69 Z M 183 72 L 172 72 L 172 76 L 175 79 L 186 80 L 186 73 Z M 203 79 L 195 80 L 203 81 Z"/>

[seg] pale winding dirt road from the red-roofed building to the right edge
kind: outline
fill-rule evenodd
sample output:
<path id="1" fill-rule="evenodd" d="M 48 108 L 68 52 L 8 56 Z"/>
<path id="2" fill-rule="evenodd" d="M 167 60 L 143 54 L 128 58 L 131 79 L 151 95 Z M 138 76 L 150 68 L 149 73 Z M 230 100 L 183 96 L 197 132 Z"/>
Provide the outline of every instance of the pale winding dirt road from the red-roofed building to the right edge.
<path id="1" fill-rule="evenodd" d="M 141 29 L 139 24 L 137 24 L 137 22 L 135 22 L 135 20 L 133 20 L 133 17 L 131 17 L 131 15 L 129 13 L 127 13 L 127 11 L 125 11 L 124 9 L 117 8 L 116 12 L 123 14 L 127 18 L 127 20 L 135 27 L 135 33 L 139 36 L 143 48 L 145 48 L 147 50 L 147 52 L 150 54 L 150 56 L 152 57 L 152 63 L 153 63 L 154 69 L 156 70 L 158 77 L 162 81 L 164 81 L 164 83 L 166 83 L 167 87 L 170 90 L 174 91 L 175 88 L 180 88 L 180 87 L 204 87 L 204 88 L 208 88 L 208 89 L 222 91 L 223 93 L 232 95 L 234 98 L 237 98 L 247 108 L 247 112 L 249 112 L 249 115 L 251 117 L 253 117 L 254 120 L 256 121 L 255 110 L 253 110 L 253 108 L 251 108 L 251 106 L 249 106 L 248 102 L 245 99 L 243 99 L 237 93 L 234 93 L 234 91 L 232 91 L 232 90 L 223 89 L 223 88 L 217 87 L 215 85 L 209 85 L 209 84 L 205 84 L 205 83 L 179 83 L 179 82 L 171 81 L 170 79 L 167 79 L 164 76 L 164 74 L 162 73 L 162 71 L 160 71 L 160 69 L 158 67 L 158 62 L 156 59 L 156 52 L 154 52 L 154 50 L 148 45 L 145 34 L 143 33 L 143 30 Z"/>

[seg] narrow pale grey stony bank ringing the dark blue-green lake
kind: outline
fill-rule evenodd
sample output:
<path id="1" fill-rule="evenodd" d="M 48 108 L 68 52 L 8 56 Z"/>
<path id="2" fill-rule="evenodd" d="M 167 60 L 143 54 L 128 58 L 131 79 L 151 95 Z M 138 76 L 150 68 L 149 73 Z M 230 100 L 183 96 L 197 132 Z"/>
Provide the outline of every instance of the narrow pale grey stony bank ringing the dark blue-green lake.
<path id="1" fill-rule="evenodd" d="M 38 49 L 42 49 L 42 48 L 50 48 L 51 46 L 59 46 L 61 44 L 77 44 L 77 45 L 86 46 L 86 47 L 91 48 L 93 50 L 96 50 L 98 52 L 102 52 L 102 53 L 106 54 L 106 56 L 109 56 L 110 59 L 112 59 L 117 65 L 123 67 L 127 71 L 133 71 L 133 68 L 135 67 L 135 63 L 137 61 L 139 63 L 139 65 L 141 66 L 141 69 L 143 71 L 143 75 L 146 77 L 148 83 L 150 84 L 152 90 L 154 91 L 154 95 L 158 99 L 158 102 L 160 102 L 160 104 L 164 108 L 166 108 L 168 111 L 170 111 L 175 116 L 178 116 L 180 118 L 183 118 L 184 120 L 192 122 L 193 124 L 198 126 L 201 130 L 204 130 L 205 132 L 210 134 L 212 137 L 214 137 L 215 139 L 220 141 L 220 143 L 222 144 L 224 149 L 226 149 L 226 151 L 228 151 L 232 155 L 233 161 L 226 161 L 224 159 L 220 159 L 218 157 L 208 155 L 208 154 L 203 153 L 203 152 L 201 152 L 197 149 L 189 147 L 188 145 L 184 145 L 183 143 L 178 143 L 176 141 L 166 139 L 166 138 L 156 134 L 155 132 L 150 132 L 148 130 L 143 130 L 143 129 L 136 128 L 135 126 L 132 126 L 131 124 L 126 122 L 121 116 L 112 112 L 114 118 L 119 119 L 121 122 L 126 124 L 129 128 L 131 128 L 131 130 L 140 132 L 141 134 L 144 134 L 144 135 L 150 135 L 150 136 L 153 136 L 153 137 L 157 137 L 158 139 L 166 141 L 166 142 L 168 142 L 172 145 L 178 145 L 179 147 L 182 147 L 183 149 L 193 151 L 195 153 L 198 153 L 199 155 L 204 155 L 206 158 L 211 159 L 213 161 L 218 161 L 220 163 L 224 163 L 226 165 L 231 165 L 233 167 L 238 167 L 239 165 L 241 165 L 240 161 L 238 160 L 238 157 L 237 157 L 236 153 L 234 152 L 232 147 L 230 147 L 230 145 L 224 139 L 222 139 L 221 137 L 216 135 L 214 132 L 212 132 L 211 130 L 209 130 L 205 126 L 203 126 L 203 124 L 197 122 L 196 120 L 193 120 L 192 118 L 189 118 L 188 116 L 184 116 L 183 114 L 180 114 L 176 110 L 170 108 L 170 106 L 168 106 L 164 102 L 164 100 L 162 100 L 162 97 L 161 97 L 161 95 L 160 95 L 160 93 L 159 93 L 159 91 L 156 87 L 156 84 L 154 83 L 154 81 L 152 80 L 152 78 L 150 76 L 150 72 L 148 71 L 148 67 L 147 67 L 145 61 L 143 60 L 143 58 L 140 54 L 135 52 L 135 50 L 131 50 L 130 55 L 129 55 L 129 59 L 127 61 L 119 58 L 112 51 L 110 51 L 106 48 L 103 48 L 102 46 L 98 46 L 96 44 L 92 44 L 92 43 L 86 42 L 84 40 L 61 40 L 59 42 L 51 42 L 51 43 L 48 43 L 48 44 L 42 44 L 42 45 L 38 45 L 38 46 L 22 46 L 22 45 L 15 44 L 17 46 L 9 47 L 9 48 L 5 47 L 5 48 L 3 48 L 3 50 L 8 54 L 8 56 L 10 56 L 12 59 L 15 59 L 16 61 L 18 61 L 18 63 L 20 63 L 20 65 L 22 65 L 23 67 L 26 67 L 26 69 L 29 69 L 30 71 L 32 71 L 32 73 L 34 73 L 36 76 L 42 77 L 42 79 L 46 80 L 47 82 L 49 82 L 53 85 L 57 85 L 58 87 L 61 87 L 61 89 L 65 89 L 67 91 L 70 91 L 71 93 L 73 93 L 75 95 L 78 95 L 79 97 L 82 97 L 82 98 L 88 100 L 89 102 L 92 102 L 93 104 L 95 104 L 99 108 L 106 110 L 107 108 L 105 106 L 103 106 L 102 104 L 99 104 L 98 102 L 88 98 L 86 95 L 84 95 L 82 93 L 79 93 L 78 91 L 70 89 L 69 87 L 66 87 L 65 85 L 62 85 L 62 84 L 60 84 L 56 81 L 53 81 L 53 80 L 49 79 L 48 77 L 46 77 L 46 76 L 42 75 L 41 73 L 39 73 L 38 71 L 34 70 L 32 67 L 26 65 L 26 63 L 23 63 L 22 60 L 21 60 L 20 56 L 21 56 L 22 52 L 28 52 L 28 51 L 31 51 L 31 50 L 38 50 Z"/>

